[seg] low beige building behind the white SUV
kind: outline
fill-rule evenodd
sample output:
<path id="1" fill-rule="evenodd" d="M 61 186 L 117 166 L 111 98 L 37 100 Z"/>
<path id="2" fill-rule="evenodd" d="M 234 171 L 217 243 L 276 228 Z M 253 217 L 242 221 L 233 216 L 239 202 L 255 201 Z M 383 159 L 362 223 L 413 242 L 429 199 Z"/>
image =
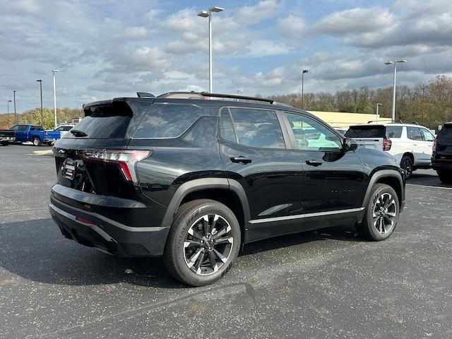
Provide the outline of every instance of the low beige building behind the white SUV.
<path id="1" fill-rule="evenodd" d="M 346 112 L 320 112 L 320 111 L 308 111 L 314 114 L 316 117 L 328 122 L 333 127 L 344 127 L 356 124 L 367 124 L 369 121 L 388 123 L 391 122 L 391 118 L 381 118 L 380 114 L 362 114 L 362 113 L 346 113 Z"/>

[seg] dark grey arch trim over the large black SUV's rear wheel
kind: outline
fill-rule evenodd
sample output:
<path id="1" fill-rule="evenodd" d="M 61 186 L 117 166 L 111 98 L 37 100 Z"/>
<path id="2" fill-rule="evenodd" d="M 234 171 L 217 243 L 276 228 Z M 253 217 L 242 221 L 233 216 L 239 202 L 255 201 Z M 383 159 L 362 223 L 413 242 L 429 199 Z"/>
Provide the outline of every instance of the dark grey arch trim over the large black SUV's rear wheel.
<path id="1" fill-rule="evenodd" d="M 172 225 L 174 213 L 183 203 L 201 198 L 223 203 L 234 212 L 239 220 L 243 243 L 249 220 L 249 204 L 242 185 L 234 179 L 203 178 L 182 184 L 174 193 L 167 207 L 162 226 Z"/>

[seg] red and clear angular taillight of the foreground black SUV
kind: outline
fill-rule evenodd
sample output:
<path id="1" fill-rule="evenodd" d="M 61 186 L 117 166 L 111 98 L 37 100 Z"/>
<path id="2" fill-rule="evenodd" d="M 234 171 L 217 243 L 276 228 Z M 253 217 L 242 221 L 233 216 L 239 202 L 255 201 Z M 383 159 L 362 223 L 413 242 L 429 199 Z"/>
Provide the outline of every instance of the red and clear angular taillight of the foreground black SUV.
<path id="1" fill-rule="evenodd" d="M 80 153 L 85 160 L 119 165 L 124 178 L 137 184 L 135 164 L 148 157 L 151 152 L 149 150 L 81 150 Z"/>

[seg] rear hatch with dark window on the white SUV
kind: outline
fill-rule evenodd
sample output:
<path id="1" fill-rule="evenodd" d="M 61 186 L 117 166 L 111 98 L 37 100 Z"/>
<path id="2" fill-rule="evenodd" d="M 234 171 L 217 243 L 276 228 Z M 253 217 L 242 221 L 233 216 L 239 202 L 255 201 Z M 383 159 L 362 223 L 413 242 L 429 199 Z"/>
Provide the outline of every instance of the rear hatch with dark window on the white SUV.
<path id="1" fill-rule="evenodd" d="M 386 129 L 383 125 L 350 126 L 345 136 L 354 138 L 360 147 L 384 150 L 383 144 L 386 140 Z"/>

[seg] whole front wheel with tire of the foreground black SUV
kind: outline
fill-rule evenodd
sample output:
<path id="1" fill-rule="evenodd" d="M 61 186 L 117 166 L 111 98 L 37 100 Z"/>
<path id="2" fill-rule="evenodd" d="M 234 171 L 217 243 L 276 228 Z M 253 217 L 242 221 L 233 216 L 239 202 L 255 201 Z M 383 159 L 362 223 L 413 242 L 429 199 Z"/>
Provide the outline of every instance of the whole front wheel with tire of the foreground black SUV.
<path id="1" fill-rule="evenodd" d="M 399 213 L 396 191 L 386 184 L 375 184 L 365 208 L 364 218 L 357 224 L 357 232 L 364 239 L 375 242 L 387 239 L 396 228 Z M 381 217 L 383 217 L 383 227 Z"/>

